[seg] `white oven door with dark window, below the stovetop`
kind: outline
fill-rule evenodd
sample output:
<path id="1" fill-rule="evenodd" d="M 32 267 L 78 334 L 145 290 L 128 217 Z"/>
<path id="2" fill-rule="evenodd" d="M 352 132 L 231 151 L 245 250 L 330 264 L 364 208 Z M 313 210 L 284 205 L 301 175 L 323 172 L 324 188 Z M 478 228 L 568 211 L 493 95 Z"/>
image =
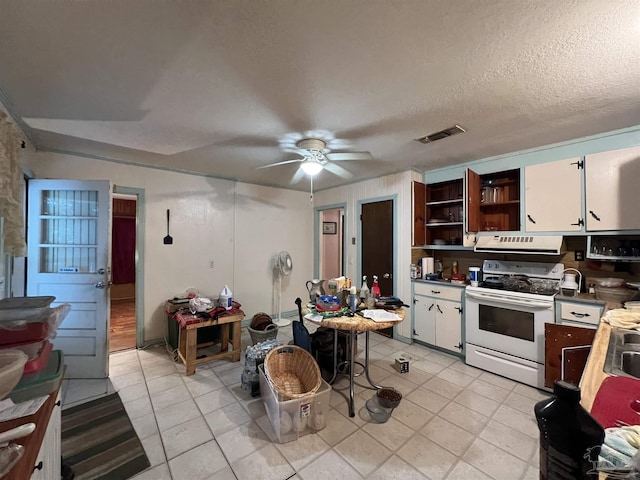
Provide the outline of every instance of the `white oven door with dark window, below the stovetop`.
<path id="1" fill-rule="evenodd" d="M 544 324 L 554 323 L 553 299 L 465 293 L 468 343 L 544 364 Z"/>

